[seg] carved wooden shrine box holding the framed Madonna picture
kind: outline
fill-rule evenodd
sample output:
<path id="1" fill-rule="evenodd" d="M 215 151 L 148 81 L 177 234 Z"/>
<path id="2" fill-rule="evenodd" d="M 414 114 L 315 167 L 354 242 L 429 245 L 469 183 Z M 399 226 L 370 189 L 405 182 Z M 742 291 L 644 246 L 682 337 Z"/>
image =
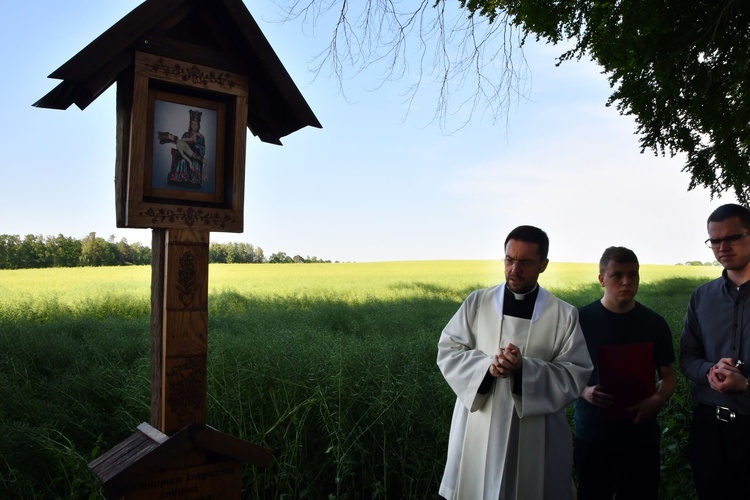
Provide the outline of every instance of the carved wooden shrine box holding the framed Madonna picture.
<path id="1" fill-rule="evenodd" d="M 247 75 L 136 52 L 130 85 L 118 81 L 118 227 L 242 232 Z"/>

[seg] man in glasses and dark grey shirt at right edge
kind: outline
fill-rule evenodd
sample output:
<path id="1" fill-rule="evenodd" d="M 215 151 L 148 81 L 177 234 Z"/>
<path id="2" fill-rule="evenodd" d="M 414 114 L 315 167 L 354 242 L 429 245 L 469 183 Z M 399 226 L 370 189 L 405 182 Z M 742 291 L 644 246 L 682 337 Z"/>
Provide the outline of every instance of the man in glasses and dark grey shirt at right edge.
<path id="1" fill-rule="evenodd" d="M 722 205 L 707 225 L 724 271 L 693 292 L 680 341 L 696 402 L 690 464 L 699 498 L 750 498 L 750 210 Z"/>

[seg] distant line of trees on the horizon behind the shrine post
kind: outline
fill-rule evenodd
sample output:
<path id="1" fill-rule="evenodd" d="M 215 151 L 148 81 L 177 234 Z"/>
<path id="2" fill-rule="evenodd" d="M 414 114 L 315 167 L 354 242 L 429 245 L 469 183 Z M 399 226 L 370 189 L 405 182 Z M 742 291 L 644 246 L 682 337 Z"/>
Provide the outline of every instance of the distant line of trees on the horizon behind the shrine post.
<path id="1" fill-rule="evenodd" d="M 263 249 L 250 243 L 211 243 L 210 263 L 328 263 L 317 257 L 288 256 L 277 252 L 266 259 Z M 151 264 L 151 248 L 126 238 L 115 242 L 89 233 L 82 240 L 63 236 L 0 234 L 0 269 L 33 269 L 45 267 L 130 266 Z"/>

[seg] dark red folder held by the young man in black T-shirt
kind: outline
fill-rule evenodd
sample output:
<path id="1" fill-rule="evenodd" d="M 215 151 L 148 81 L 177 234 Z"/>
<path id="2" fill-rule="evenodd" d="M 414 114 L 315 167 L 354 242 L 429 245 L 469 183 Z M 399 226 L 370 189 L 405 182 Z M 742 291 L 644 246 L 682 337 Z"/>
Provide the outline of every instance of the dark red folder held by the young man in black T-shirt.
<path id="1" fill-rule="evenodd" d="M 602 409 L 605 419 L 633 419 L 627 408 L 656 392 L 654 345 L 604 345 L 599 347 L 599 385 L 615 396 L 615 403 Z"/>

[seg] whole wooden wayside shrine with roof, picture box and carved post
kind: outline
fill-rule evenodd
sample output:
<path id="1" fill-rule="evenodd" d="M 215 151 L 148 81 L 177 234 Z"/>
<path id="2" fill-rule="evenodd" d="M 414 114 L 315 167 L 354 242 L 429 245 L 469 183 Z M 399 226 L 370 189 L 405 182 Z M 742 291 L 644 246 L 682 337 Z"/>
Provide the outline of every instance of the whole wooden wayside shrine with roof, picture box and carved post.
<path id="1" fill-rule="evenodd" d="M 243 231 L 246 131 L 320 123 L 242 0 L 147 0 L 50 77 L 37 107 L 117 83 L 117 226 L 152 229 L 151 420 L 89 468 L 110 498 L 239 499 L 273 452 L 206 422 L 210 233 Z"/>

